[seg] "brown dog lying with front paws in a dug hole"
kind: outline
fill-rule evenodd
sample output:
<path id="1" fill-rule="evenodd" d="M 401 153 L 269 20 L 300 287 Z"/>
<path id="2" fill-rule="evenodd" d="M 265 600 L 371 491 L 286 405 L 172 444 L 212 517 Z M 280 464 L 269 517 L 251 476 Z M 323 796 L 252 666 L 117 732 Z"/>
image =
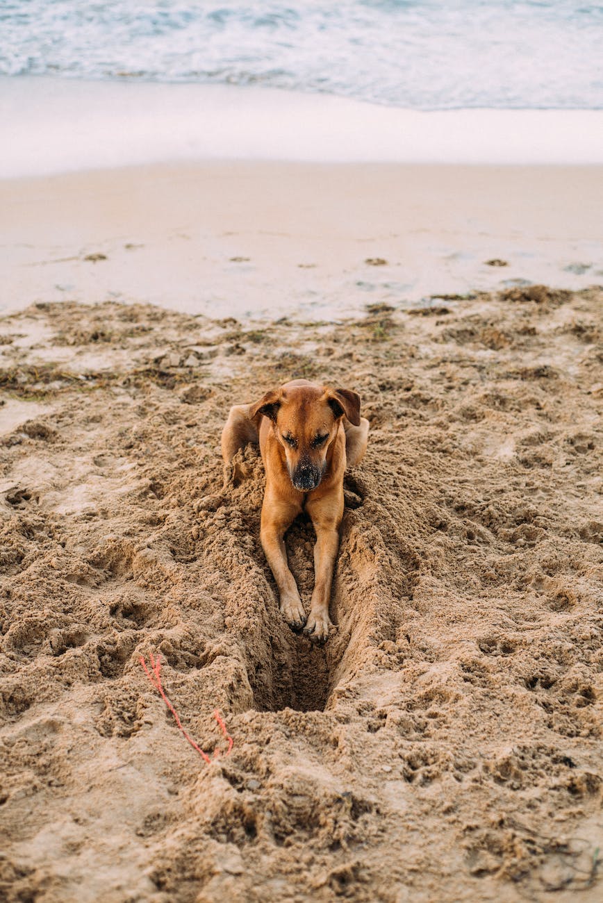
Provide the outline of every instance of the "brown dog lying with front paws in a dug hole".
<path id="1" fill-rule="evenodd" d="M 329 598 L 343 517 L 343 475 L 366 451 L 368 421 L 360 396 L 349 389 L 294 379 L 256 402 L 235 405 L 222 431 L 222 457 L 229 464 L 246 442 L 260 443 L 266 471 L 261 540 L 281 596 L 281 611 L 293 629 L 319 640 L 329 636 Z M 316 531 L 314 591 L 306 619 L 287 564 L 284 534 L 302 510 Z"/>

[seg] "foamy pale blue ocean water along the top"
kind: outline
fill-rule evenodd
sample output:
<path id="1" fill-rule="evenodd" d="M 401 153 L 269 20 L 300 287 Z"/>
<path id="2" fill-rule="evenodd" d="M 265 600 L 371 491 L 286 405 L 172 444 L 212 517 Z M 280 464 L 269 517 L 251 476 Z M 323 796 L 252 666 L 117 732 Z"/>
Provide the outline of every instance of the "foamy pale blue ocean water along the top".
<path id="1" fill-rule="evenodd" d="M 0 75 L 261 84 L 390 107 L 603 108 L 603 4 L 1 0 Z"/>

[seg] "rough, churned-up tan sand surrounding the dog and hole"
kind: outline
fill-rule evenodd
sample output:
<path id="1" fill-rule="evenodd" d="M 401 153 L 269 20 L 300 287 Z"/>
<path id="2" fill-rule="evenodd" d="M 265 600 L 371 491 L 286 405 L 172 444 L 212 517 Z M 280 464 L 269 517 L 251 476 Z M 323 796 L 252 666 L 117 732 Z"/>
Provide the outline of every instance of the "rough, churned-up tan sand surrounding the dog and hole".
<path id="1" fill-rule="evenodd" d="M 5 318 L 0 896 L 600 900 L 602 300 Z M 228 406 L 296 376 L 371 422 L 323 647 L 279 615 L 255 448 L 221 489 Z M 288 547 L 307 602 L 308 523 Z"/>

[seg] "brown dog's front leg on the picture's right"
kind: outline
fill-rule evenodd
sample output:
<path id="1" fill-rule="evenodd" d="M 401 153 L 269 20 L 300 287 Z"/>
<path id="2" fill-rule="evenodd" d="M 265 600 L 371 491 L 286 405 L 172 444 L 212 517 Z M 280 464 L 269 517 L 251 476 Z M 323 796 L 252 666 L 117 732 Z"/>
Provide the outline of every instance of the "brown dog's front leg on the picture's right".
<path id="1" fill-rule="evenodd" d="M 333 504 L 333 500 L 306 505 L 316 531 L 314 545 L 314 591 L 310 614 L 304 633 L 312 639 L 324 640 L 329 637 L 329 601 L 335 559 L 339 549 L 339 524 L 343 514 L 343 490 Z"/>

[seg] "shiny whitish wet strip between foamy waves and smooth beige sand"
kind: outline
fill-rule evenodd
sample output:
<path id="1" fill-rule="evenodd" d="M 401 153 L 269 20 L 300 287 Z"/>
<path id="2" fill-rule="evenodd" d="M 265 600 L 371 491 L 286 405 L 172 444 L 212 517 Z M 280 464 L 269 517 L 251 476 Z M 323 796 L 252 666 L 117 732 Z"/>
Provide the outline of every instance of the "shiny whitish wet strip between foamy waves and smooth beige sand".
<path id="1" fill-rule="evenodd" d="M 603 163 L 603 110 L 385 107 L 195 83 L 0 77 L 0 178 L 209 160 Z"/>

